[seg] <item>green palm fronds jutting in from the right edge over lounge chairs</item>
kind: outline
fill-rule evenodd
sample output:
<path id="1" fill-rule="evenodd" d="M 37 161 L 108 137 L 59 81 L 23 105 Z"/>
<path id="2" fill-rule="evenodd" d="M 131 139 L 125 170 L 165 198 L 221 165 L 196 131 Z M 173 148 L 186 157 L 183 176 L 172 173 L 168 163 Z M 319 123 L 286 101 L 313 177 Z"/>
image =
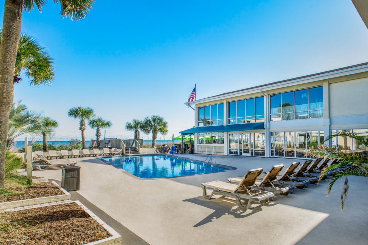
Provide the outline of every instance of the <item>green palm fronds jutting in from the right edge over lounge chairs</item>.
<path id="1" fill-rule="evenodd" d="M 338 131 L 337 133 L 333 133 L 331 136 L 327 137 L 325 141 L 328 141 L 334 137 L 349 137 L 353 138 L 355 142 L 360 142 L 362 145 L 368 148 L 368 136 L 360 136 L 351 131 Z M 335 184 L 336 180 L 343 178 L 344 184 L 341 186 L 341 209 L 344 208 L 344 202 L 347 197 L 348 192 L 348 176 L 361 176 L 368 177 L 368 157 L 367 155 L 359 154 L 355 152 L 354 154 L 345 154 L 339 149 L 332 148 L 329 145 L 319 145 L 319 149 L 311 150 L 312 157 L 321 157 L 324 156 L 326 158 L 335 158 L 340 159 L 340 162 L 336 164 L 332 164 L 330 166 L 325 167 L 319 176 L 319 181 L 326 175 L 326 173 L 335 170 L 332 174 L 332 178 L 327 188 L 327 196 L 330 194 L 333 184 Z M 344 167 L 339 169 L 340 167 Z"/>

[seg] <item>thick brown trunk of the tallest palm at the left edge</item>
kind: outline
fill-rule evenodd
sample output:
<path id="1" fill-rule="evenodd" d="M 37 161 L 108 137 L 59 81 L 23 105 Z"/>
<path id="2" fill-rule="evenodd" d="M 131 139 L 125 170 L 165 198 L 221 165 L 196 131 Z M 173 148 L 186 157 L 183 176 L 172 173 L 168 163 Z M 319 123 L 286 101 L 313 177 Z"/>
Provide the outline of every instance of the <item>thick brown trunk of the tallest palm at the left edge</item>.
<path id="1" fill-rule="evenodd" d="M 8 118 L 13 103 L 14 65 L 21 32 L 23 0 L 6 0 L 0 45 L 0 188 L 4 187 Z"/>

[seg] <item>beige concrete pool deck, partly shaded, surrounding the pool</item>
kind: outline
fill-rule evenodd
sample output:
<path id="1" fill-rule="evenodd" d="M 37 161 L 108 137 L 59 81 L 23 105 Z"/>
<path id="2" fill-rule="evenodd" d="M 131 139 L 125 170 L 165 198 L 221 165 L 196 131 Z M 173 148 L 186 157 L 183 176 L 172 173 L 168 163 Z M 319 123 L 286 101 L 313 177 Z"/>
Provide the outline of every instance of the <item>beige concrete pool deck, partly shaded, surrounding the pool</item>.
<path id="1" fill-rule="evenodd" d="M 204 161 L 206 155 L 176 155 Z M 367 244 L 368 178 L 349 177 L 344 211 L 340 181 L 326 198 L 326 181 L 277 195 L 247 211 L 231 199 L 206 200 L 201 183 L 242 176 L 248 169 L 268 170 L 295 159 L 215 156 L 236 167 L 210 174 L 169 179 L 138 179 L 98 158 L 76 158 L 81 189 L 88 201 L 151 245 L 172 244 Z M 303 160 L 298 160 L 303 161 Z M 34 176 L 61 180 L 61 170 L 34 171 Z M 123 237 L 124 244 L 124 237 Z"/>

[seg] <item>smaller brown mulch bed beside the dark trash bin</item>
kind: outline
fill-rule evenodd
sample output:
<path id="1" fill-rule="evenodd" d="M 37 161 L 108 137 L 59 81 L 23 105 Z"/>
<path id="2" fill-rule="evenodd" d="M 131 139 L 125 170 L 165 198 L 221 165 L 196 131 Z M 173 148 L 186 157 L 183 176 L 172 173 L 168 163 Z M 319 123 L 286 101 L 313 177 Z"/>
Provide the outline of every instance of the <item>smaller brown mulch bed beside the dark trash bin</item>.
<path id="1" fill-rule="evenodd" d="M 51 197 L 64 194 L 64 192 L 52 182 L 35 183 L 32 184 L 31 187 L 7 187 L 6 185 L 5 187 L 14 191 L 22 191 L 22 193 L 2 196 L 0 197 L 0 202 L 11 202 L 38 197 Z"/>

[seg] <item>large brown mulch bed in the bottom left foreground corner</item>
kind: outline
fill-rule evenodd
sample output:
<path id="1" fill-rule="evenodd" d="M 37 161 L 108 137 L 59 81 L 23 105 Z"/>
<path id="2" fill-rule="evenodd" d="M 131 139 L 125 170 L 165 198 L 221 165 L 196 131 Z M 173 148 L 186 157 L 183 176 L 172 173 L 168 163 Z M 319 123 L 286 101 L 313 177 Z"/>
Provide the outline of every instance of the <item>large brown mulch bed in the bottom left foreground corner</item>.
<path id="1" fill-rule="evenodd" d="M 82 245 L 110 234 L 77 203 L 0 213 L 0 224 L 24 223 L 10 232 L 0 226 L 0 244 Z"/>

